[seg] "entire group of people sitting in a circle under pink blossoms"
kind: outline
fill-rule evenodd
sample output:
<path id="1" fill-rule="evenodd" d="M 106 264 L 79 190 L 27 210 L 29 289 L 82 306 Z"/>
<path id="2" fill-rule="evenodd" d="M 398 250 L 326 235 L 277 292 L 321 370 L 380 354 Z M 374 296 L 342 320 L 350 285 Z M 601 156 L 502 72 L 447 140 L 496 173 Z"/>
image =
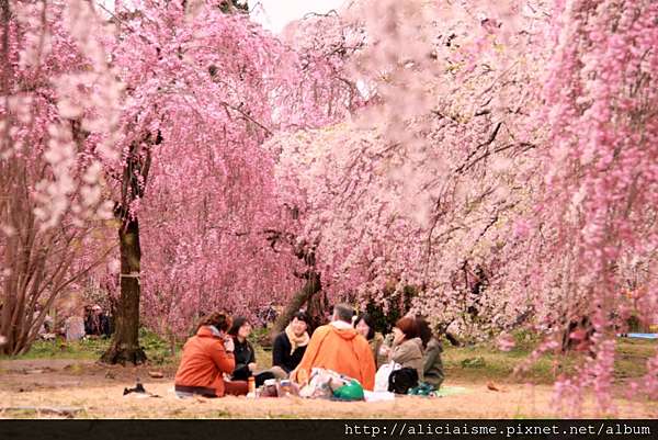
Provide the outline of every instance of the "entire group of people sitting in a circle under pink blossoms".
<path id="1" fill-rule="evenodd" d="M 296 313 L 274 339 L 272 366 L 259 370 L 248 340 L 252 329 L 248 319 L 231 320 L 225 313 L 204 317 L 196 335 L 183 347 L 174 380 L 177 395 L 247 395 L 249 377 L 254 379 L 256 386 L 268 379 L 305 385 L 314 368 L 355 379 L 372 391 L 377 369 L 389 362 L 415 369 L 419 380 L 435 388 L 443 382 L 441 343 L 422 318 L 399 319 L 387 338 L 375 331 L 368 315 L 355 317 L 347 304 L 336 305 L 331 323 L 318 327 L 310 337 L 308 321 L 305 313 Z"/>

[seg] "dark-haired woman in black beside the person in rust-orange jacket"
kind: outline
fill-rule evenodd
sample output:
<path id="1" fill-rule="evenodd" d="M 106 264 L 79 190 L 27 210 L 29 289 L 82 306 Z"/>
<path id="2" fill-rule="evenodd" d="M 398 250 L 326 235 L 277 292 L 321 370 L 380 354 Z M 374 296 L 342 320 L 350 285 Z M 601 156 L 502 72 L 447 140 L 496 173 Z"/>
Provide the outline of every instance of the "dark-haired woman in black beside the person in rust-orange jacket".
<path id="1" fill-rule="evenodd" d="M 228 334 L 234 338 L 236 368 L 232 371 L 231 379 L 234 381 L 247 381 L 253 376 L 256 386 L 261 386 L 268 379 L 285 379 L 286 373 L 281 369 L 275 372 L 265 370 L 257 373 L 258 364 L 256 363 L 256 350 L 247 338 L 251 335 L 251 324 L 242 316 L 234 320 Z"/>

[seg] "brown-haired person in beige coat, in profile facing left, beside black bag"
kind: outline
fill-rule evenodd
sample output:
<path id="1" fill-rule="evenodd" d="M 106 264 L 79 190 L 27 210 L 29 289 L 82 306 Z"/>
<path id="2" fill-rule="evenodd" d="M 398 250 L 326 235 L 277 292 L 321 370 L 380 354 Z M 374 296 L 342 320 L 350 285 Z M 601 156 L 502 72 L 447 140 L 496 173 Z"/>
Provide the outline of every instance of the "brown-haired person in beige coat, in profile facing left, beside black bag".
<path id="1" fill-rule="evenodd" d="M 384 347 L 388 362 L 399 363 L 402 368 L 415 369 L 418 380 L 423 380 L 422 340 L 418 337 L 418 324 L 412 317 L 404 317 L 393 328 L 393 347 Z"/>

